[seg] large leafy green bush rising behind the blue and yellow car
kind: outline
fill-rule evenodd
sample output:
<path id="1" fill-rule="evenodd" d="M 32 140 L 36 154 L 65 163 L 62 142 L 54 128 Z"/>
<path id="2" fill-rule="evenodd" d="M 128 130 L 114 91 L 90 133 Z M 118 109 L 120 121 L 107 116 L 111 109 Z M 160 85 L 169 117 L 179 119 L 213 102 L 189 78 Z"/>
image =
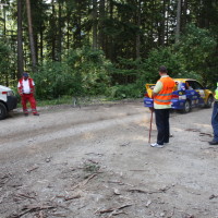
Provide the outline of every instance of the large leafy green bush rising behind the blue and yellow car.
<path id="1" fill-rule="evenodd" d="M 217 43 L 209 31 L 191 24 L 187 25 L 181 41 L 174 46 L 174 50 L 180 53 L 185 71 L 192 72 L 206 84 L 209 75 L 214 74 L 215 77 L 216 73 L 218 77 L 216 47 Z"/>

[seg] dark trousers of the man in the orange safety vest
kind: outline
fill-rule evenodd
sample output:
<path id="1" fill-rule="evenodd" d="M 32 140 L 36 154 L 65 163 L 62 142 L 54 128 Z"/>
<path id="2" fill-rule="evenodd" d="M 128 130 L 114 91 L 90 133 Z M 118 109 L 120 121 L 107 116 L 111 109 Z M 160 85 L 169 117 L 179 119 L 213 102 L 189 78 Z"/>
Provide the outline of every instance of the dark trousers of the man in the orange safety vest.
<path id="1" fill-rule="evenodd" d="M 169 143 L 169 117 L 170 109 L 155 109 L 155 119 L 157 125 L 157 144 L 159 145 L 164 145 L 164 143 Z"/>

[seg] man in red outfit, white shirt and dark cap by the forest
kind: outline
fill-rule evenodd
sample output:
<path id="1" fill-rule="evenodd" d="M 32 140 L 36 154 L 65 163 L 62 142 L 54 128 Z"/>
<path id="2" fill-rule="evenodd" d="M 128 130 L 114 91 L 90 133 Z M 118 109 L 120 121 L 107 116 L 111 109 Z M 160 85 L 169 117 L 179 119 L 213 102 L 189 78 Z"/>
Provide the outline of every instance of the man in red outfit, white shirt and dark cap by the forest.
<path id="1" fill-rule="evenodd" d="M 28 109 L 26 107 L 27 101 L 29 101 L 31 104 L 33 114 L 39 116 L 39 113 L 36 110 L 36 100 L 34 98 L 35 83 L 33 78 L 28 77 L 28 73 L 23 73 L 23 77 L 19 81 L 17 84 L 17 90 L 21 96 L 24 116 L 28 116 Z"/>

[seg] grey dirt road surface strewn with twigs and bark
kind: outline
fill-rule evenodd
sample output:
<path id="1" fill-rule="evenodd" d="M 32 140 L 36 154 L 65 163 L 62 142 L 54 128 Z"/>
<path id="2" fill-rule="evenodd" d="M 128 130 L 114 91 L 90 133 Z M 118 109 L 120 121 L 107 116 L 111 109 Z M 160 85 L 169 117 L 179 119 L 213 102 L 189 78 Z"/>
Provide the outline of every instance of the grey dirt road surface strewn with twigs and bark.
<path id="1" fill-rule="evenodd" d="M 39 112 L 0 121 L 1 218 L 218 217 L 211 109 L 173 112 L 164 148 L 138 100 Z"/>

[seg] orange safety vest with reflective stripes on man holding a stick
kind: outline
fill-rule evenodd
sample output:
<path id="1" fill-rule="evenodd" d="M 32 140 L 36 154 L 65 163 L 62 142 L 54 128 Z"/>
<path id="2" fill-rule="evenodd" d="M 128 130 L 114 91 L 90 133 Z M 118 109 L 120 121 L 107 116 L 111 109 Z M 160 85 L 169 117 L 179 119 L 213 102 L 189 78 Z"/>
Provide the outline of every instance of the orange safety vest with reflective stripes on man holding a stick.
<path id="1" fill-rule="evenodd" d="M 157 105 L 170 105 L 175 83 L 171 77 L 161 77 L 159 81 L 162 83 L 162 89 L 155 96 L 154 101 Z"/>

